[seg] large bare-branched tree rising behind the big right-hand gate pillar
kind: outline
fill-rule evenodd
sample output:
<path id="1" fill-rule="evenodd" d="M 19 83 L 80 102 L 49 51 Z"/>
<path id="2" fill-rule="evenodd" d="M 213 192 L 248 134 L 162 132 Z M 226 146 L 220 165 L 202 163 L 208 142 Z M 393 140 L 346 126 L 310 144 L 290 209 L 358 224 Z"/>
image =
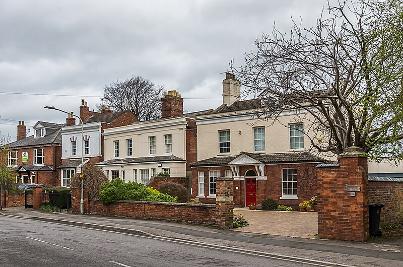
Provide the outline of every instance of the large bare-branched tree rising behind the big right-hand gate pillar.
<path id="1" fill-rule="evenodd" d="M 232 72 L 245 95 L 265 98 L 261 118 L 291 109 L 310 120 L 313 150 L 357 146 L 375 159 L 403 158 L 402 0 L 347 0 L 327 11 L 311 28 L 274 26 Z"/>

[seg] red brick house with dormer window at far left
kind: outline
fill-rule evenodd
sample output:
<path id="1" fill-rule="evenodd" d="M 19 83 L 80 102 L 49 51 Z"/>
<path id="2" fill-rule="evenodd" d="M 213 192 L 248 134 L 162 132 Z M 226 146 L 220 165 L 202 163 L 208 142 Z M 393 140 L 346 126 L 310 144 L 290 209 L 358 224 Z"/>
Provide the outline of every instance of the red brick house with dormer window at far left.
<path id="1" fill-rule="evenodd" d="M 57 166 L 61 164 L 61 136 L 63 124 L 38 121 L 34 135 L 26 137 L 26 126 L 17 126 L 17 141 L 8 144 L 8 165 L 24 183 L 60 185 Z M 19 179 L 17 179 L 19 180 Z"/>

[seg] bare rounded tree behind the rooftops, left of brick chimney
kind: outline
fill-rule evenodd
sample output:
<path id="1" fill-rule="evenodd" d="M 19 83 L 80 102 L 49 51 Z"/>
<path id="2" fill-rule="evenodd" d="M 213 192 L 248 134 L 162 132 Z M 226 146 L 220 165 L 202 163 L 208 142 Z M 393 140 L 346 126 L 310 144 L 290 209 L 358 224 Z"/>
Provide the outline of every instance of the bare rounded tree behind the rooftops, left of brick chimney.
<path id="1" fill-rule="evenodd" d="M 156 86 L 141 76 L 116 80 L 105 86 L 103 104 L 114 110 L 130 110 L 139 120 L 159 118 L 164 86 Z"/>

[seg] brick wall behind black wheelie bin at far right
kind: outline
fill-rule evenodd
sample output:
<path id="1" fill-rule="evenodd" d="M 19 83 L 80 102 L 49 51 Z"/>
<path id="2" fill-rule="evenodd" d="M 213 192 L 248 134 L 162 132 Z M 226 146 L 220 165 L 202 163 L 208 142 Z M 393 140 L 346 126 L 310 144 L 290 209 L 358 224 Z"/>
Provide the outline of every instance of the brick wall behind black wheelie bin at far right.
<path id="1" fill-rule="evenodd" d="M 368 182 L 368 199 L 370 203 L 381 203 L 380 225 L 403 223 L 403 182 Z"/>

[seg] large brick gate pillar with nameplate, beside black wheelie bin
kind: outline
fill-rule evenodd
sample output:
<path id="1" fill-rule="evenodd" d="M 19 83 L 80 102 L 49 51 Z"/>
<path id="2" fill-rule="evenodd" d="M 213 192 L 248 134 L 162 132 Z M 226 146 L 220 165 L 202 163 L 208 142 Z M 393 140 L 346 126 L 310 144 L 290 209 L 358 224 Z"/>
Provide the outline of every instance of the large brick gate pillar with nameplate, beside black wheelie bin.
<path id="1" fill-rule="evenodd" d="M 349 147 L 339 155 L 340 164 L 318 165 L 318 235 L 368 241 L 368 154 Z"/>

